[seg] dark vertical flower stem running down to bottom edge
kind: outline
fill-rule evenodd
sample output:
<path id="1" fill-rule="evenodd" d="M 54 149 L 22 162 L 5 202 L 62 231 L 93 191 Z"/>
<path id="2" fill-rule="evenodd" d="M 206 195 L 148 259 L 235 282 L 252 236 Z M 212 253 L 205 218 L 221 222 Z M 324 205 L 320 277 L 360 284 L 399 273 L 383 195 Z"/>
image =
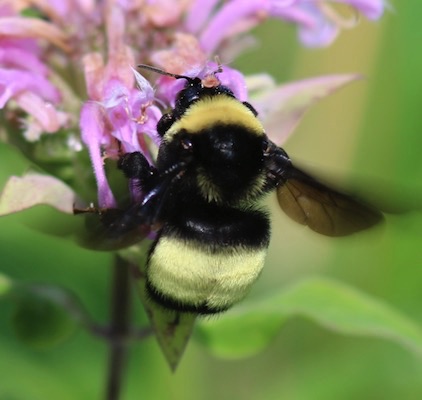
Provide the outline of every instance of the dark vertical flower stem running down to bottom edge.
<path id="1" fill-rule="evenodd" d="M 128 263 L 115 257 L 111 293 L 110 354 L 106 399 L 118 400 L 126 364 L 127 336 L 130 329 L 130 274 Z"/>

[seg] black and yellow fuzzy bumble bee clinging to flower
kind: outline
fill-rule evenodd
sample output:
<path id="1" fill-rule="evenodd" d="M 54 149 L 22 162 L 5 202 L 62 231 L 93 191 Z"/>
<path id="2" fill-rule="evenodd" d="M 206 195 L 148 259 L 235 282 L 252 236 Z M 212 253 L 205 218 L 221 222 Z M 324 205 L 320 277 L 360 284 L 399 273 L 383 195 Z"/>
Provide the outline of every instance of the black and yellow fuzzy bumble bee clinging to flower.
<path id="1" fill-rule="evenodd" d="M 270 219 L 258 202 L 273 190 L 288 216 L 323 235 L 348 235 L 381 221 L 377 210 L 296 168 L 267 137 L 253 106 L 218 81 L 221 71 L 210 84 L 141 67 L 186 81 L 174 109 L 158 122 L 156 166 L 139 152 L 118 162 L 144 193 L 126 220 L 159 226 L 146 267 L 153 301 L 213 314 L 244 298 L 270 240 Z"/>

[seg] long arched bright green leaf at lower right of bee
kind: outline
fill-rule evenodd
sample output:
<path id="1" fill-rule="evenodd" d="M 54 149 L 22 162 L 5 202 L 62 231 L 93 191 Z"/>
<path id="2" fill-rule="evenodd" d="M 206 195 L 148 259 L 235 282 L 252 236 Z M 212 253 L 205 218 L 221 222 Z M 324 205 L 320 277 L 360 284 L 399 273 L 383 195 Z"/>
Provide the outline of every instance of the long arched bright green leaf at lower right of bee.
<path id="1" fill-rule="evenodd" d="M 267 347 L 283 322 L 295 316 L 343 334 L 388 339 L 422 354 L 422 329 L 413 321 L 380 300 L 322 278 L 201 321 L 196 338 L 221 357 L 251 356 Z"/>

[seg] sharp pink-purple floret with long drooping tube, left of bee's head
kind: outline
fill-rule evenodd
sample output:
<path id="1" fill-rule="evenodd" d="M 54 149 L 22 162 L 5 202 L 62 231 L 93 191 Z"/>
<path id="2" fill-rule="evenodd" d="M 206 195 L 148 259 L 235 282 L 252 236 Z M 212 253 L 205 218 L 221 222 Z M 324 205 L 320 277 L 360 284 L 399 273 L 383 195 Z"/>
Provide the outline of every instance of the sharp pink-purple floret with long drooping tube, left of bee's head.
<path id="1" fill-rule="evenodd" d="M 98 203 L 100 207 L 116 207 L 104 159 L 141 151 L 151 160 L 144 135 L 157 143 L 156 125 L 161 112 L 153 104 L 152 87 L 131 69 L 134 57 L 123 39 L 125 15 L 121 9 L 112 7 L 106 20 L 107 63 L 98 53 L 84 58 L 89 100 L 82 107 L 80 128 L 94 167 Z M 140 86 L 138 89 L 134 87 L 135 80 Z"/>

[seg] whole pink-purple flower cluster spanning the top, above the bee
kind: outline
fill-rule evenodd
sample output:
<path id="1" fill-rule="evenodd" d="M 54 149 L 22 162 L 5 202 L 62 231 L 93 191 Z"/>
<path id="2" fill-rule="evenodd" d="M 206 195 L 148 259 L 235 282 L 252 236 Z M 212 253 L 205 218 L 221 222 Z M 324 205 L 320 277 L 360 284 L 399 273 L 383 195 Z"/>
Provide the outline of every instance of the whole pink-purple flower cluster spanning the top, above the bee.
<path id="1" fill-rule="evenodd" d="M 352 18 L 341 6 L 354 10 Z M 251 28 L 268 18 L 296 24 L 300 41 L 315 47 L 353 26 L 358 13 L 375 20 L 384 8 L 383 0 L 2 0 L 0 107 L 27 141 L 65 132 L 74 150 L 86 146 L 99 206 L 114 207 L 105 158 L 141 151 L 152 162 L 157 121 L 183 84 L 161 76 L 154 89 L 136 64 L 206 75 L 215 69 L 210 59 L 232 60 Z M 240 72 L 225 67 L 219 78 L 247 99 Z M 286 94 L 268 87 L 272 102 L 271 93 Z M 268 104 L 261 108 L 265 116 Z"/>

